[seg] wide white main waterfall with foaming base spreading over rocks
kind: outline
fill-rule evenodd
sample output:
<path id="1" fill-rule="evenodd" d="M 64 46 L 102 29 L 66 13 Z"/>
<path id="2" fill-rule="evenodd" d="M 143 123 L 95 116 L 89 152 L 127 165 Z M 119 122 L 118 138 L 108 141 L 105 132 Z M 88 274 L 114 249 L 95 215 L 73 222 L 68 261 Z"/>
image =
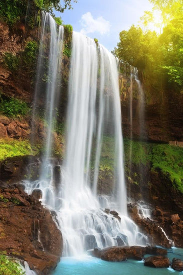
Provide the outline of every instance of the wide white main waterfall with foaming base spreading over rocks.
<path id="1" fill-rule="evenodd" d="M 46 88 L 49 128 L 45 140 L 46 153 L 40 178 L 34 182 L 26 181 L 26 191 L 31 193 L 35 188 L 41 189 L 42 202 L 57 212 L 65 255 L 78 255 L 95 246 L 145 244 L 145 236 L 127 216 L 118 61 L 102 45 L 97 47 L 93 39 L 77 32 L 73 32 L 72 36 L 65 159 L 59 166 L 60 181 L 57 186 L 54 185 L 55 164 L 48 159 L 51 155 L 57 71 L 52 68 L 59 50 L 55 46 L 58 34 L 52 31 L 52 27 L 50 29 L 55 37 L 50 39 L 48 75 L 51 84 L 48 83 Z M 55 43 L 54 46 L 52 43 Z M 114 179 L 111 180 L 110 195 L 98 197 L 105 139 L 110 140 L 113 148 L 110 161 Z M 50 175 L 46 178 L 48 169 Z M 118 210 L 121 222 L 101 207 Z"/>

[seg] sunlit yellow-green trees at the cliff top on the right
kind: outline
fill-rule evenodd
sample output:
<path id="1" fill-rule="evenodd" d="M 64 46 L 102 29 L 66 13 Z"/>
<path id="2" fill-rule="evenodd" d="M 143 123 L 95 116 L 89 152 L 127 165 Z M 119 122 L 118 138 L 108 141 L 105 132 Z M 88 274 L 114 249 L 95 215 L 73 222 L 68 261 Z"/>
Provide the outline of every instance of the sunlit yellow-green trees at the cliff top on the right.
<path id="1" fill-rule="evenodd" d="M 114 53 L 143 72 L 146 89 L 183 90 L 182 0 L 150 0 L 152 11 L 141 17 L 143 27 L 120 32 Z M 158 18 L 158 19 L 157 19 Z M 157 22 L 156 22 L 157 19 Z M 150 29 L 154 22 L 159 33 Z"/>

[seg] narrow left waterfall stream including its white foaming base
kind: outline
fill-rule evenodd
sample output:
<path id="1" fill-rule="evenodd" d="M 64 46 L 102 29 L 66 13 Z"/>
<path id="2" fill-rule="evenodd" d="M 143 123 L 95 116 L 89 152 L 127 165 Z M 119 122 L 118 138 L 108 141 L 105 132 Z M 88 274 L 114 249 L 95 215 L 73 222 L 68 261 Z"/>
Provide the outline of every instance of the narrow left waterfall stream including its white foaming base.
<path id="1" fill-rule="evenodd" d="M 44 109 L 44 128 L 45 149 L 43 153 L 43 163 L 41 165 L 39 180 L 30 184 L 26 184 L 28 188 L 41 189 L 43 192 L 43 203 L 55 207 L 55 188 L 53 183 L 53 170 L 51 163 L 51 148 L 52 148 L 52 130 L 53 124 L 56 121 L 56 108 L 60 92 L 61 80 L 61 59 L 63 49 L 64 28 L 57 28 L 55 20 L 47 12 L 42 12 L 41 19 L 41 37 L 39 45 L 39 55 L 37 62 L 36 84 L 34 94 L 34 104 L 32 113 L 32 132 L 35 128 L 35 118 L 39 111 L 40 98 L 45 97 Z M 44 95 L 42 82 L 46 82 L 44 87 Z M 35 136 L 32 135 L 32 143 L 35 141 Z M 34 163 L 33 163 L 34 164 Z M 32 163 L 30 163 L 31 169 Z"/>

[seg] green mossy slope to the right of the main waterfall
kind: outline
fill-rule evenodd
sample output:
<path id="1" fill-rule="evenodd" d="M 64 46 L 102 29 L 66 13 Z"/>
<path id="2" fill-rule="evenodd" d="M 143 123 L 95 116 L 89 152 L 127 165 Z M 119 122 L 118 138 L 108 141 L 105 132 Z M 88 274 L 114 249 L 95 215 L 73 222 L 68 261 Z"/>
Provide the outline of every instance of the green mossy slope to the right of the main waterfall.
<path id="1" fill-rule="evenodd" d="M 170 178 L 173 186 L 183 193 L 182 147 L 125 139 L 125 165 L 127 167 L 130 165 L 130 147 L 132 150 L 132 163 L 137 166 L 142 163 L 145 166 L 149 166 L 152 170 L 160 169 Z"/>

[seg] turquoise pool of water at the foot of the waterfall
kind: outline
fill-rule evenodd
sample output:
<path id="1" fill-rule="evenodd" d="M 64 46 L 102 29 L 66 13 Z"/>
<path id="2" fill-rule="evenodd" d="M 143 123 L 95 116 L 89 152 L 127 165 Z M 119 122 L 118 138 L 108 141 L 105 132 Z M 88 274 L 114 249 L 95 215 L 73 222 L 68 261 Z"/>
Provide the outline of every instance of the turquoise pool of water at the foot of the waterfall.
<path id="1" fill-rule="evenodd" d="M 173 248 L 168 251 L 168 257 L 183 260 L 183 249 Z M 172 268 L 152 268 L 144 266 L 143 261 L 127 260 L 122 262 L 108 262 L 99 258 L 85 255 L 83 257 L 63 257 L 54 275 L 179 275 L 183 272 Z"/>

